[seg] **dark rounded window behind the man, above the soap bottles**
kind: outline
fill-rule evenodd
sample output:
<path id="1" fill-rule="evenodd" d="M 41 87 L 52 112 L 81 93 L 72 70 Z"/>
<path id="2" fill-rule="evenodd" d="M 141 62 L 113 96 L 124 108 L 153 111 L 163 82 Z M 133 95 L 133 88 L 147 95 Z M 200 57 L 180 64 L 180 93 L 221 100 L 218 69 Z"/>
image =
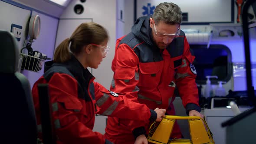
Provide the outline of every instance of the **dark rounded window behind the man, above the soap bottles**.
<path id="1" fill-rule="evenodd" d="M 218 81 L 228 82 L 233 73 L 230 49 L 224 45 L 190 45 L 191 52 L 196 57 L 194 66 L 197 69 L 197 84 L 205 84 L 207 75 L 217 75 L 211 79 L 212 84 Z"/>

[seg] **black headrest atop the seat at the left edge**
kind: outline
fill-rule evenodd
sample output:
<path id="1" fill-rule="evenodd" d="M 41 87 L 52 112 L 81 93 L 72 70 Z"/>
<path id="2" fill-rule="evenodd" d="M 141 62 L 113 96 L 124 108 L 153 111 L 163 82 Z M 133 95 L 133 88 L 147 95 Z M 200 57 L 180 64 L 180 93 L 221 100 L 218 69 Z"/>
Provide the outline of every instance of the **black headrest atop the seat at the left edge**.
<path id="1" fill-rule="evenodd" d="M 12 33 L 0 30 L 0 72 L 14 73 L 18 70 L 20 50 Z"/>

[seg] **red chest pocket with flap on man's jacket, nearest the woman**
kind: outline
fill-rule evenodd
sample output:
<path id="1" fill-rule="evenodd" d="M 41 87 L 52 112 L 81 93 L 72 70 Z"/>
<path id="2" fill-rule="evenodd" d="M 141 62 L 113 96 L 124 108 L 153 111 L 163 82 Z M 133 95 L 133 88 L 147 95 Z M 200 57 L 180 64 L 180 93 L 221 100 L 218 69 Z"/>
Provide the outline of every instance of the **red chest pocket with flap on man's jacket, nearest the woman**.
<path id="1" fill-rule="evenodd" d="M 139 86 L 157 87 L 160 78 L 157 62 L 139 63 Z"/>

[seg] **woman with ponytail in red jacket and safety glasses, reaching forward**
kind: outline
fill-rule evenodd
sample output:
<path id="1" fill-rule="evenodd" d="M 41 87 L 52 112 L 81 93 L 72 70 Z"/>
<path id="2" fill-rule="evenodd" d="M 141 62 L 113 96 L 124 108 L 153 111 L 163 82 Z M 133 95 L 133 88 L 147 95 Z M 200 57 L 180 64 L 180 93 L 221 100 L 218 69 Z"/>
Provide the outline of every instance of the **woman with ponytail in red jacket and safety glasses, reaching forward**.
<path id="1" fill-rule="evenodd" d="M 109 50 L 107 43 L 104 27 L 82 23 L 56 48 L 53 61 L 45 63 L 45 73 L 33 85 L 40 127 L 37 85 L 49 84 L 57 144 L 112 144 L 92 131 L 95 114 L 138 121 L 161 121 L 164 117 L 165 109 L 150 110 L 93 81 L 95 78 L 87 67 L 98 68 Z"/>

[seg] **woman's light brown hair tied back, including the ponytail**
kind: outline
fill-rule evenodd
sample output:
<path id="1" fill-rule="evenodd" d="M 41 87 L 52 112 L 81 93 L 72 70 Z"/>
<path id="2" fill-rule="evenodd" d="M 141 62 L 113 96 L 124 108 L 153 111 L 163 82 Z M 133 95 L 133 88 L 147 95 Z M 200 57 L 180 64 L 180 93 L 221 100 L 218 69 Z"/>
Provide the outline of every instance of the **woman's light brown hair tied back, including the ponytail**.
<path id="1" fill-rule="evenodd" d="M 98 23 L 82 23 L 72 33 L 70 38 L 62 41 L 54 52 L 54 62 L 66 62 L 71 59 L 70 52 L 78 54 L 84 46 L 90 43 L 100 44 L 108 40 L 107 30 Z M 69 44 L 70 49 L 69 49 Z"/>

